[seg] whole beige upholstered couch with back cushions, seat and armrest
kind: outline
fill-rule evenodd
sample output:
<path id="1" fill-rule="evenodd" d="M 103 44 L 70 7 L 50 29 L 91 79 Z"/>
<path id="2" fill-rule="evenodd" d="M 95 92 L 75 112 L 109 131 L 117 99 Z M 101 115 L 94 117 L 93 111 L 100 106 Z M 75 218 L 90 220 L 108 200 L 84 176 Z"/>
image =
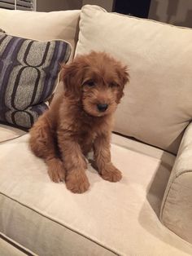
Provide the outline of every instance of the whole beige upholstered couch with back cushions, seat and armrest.
<path id="1" fill-rule="evenodd" d="M 192 30 L 95 6 L 0 9 L 0 28 L 66 40 L 75 54 L 107 51 L 130 73 L 111 141 L 119 183 L 104 181 L 89 165 L 89 191 L 72 194 L 50 181 L 28 149 L 27 132 L 0 125 L 0 239 L 43 256 L 191 255 Z M 62 83 L 56 95 L 60 90 Z M 5 241 L 0 255 L 19 255 L 10 243 L 6 254 Z"/>

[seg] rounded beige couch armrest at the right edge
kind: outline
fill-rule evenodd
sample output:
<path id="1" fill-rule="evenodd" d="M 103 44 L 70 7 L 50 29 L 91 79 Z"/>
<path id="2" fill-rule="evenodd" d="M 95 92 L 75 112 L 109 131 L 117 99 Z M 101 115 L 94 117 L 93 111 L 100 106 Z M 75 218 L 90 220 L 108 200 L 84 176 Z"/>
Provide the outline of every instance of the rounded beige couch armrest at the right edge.
<path id="1" fill-rule="evenodd" d="M 161 205 L 160 219 L 192 243 L 192 122 L 185 130 Z"/>

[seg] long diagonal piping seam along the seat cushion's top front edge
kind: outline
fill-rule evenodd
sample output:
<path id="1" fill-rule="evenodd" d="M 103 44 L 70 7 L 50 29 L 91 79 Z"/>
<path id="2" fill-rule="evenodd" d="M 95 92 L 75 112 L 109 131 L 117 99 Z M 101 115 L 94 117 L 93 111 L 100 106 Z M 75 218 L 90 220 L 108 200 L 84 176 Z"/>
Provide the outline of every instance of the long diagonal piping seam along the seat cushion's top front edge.
<path id="1" fill-rule="evenodd" d="M 24 205 L 24 203 L 21 203 L 20 201 L 15 200 L 15 199 L 12 198 L 11 196 L 7 196 L 7 195 L 4 194 L 3 192 L 0 192 L 0 195 L 6 196 L 7 198 L 11 199 L 12 201 L 17 202 L 17 203 L 20 204 L 20 205 L 23 205 L 25 208 L 28 208 L 29 210 L 32 210 L 33 212 L 36 212 L 37 214 L 43 216 L 44 218 L 47 218 L 47 219 L 49 219 L 50 221 L 53 221 L 54 223 L 57 223 L 57 224 L 59 224 L 60 226 L 65 227 L 65 228 L 67 228 L 68 230 L 70 230 L 70 231 L 72 231 L 72 232 L 75 232 L 76 234 L 78 234 L 78 235 L 80 235 L 80 236 L 83 236 L 85 239 L 88 239 L 89 241 L 94 242 L 96 245 L 99 245 L 99 246 L 103 247 L 103 249 L 107 249 L 108 251 L 110 251 L 111 253 L 113 253 L 113 254 L 115 254 L 115 255 L 118 255 L 118 256 L 120 255 L 120 254 L 117 253 L 114 249 L 108 248 L 106 245 L 102 245 L 102 244 L 99 243 L 98 241 L 94 241 L 94 239 L 92 239 L 92 238 L 90 238 L 90 237 L 88 237 L 88 236 L 82 234 L 81 232 L 76 231 L 76 230 L 73 229 L 72 227 L 68 227 L 68 226 L 66 226 L 66 225 L 63 224 L 63 223 L 59 223 L 58 220 L 55 220 L 54 218 L 51 218 L 51 217 L 49 217 L 49 216 L 46 216 L 46 215 L 42 214 L 41 212 L 39 212 L 39 211 L 37 211 L 37 210 L 31 208 L 31 207 L 28 206 L 28 205 Z"/>

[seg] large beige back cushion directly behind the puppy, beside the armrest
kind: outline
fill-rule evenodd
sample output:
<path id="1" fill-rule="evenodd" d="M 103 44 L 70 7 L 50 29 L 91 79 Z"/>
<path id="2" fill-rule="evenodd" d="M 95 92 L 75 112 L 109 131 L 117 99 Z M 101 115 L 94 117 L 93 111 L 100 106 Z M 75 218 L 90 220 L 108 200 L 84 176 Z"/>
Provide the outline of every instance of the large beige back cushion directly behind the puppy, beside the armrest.
<path id="1" fill-rule="evenodd" d="M 192 117 L 191 42 L 191 29 L 82 8 L 76 54 L 107 51 L 129 66 L 116 131 L 177 152 Z"/>

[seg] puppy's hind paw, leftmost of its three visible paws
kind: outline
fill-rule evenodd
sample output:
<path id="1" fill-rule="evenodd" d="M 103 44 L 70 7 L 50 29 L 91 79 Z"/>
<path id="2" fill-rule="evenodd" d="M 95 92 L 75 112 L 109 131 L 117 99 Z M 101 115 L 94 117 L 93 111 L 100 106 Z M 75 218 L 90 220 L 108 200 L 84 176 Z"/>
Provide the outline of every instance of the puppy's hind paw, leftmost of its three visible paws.
<path id="1" fill-rule="evenodd" d="M 59 159 L 53 159 L 48 163 L 48 174 L 50 179 L 55 182 L 59 183 L 64 181 L 65 179 L 65 170 L 63 167 L 63 162 Z"/>

